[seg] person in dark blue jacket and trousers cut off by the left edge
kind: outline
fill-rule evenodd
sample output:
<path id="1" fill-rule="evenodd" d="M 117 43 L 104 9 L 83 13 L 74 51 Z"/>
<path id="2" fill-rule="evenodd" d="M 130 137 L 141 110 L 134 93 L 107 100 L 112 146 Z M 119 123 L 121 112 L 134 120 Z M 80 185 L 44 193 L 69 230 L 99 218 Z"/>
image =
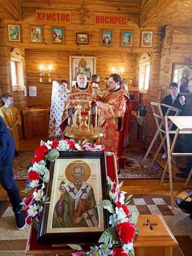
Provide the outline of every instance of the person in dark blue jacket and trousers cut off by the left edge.
<path id="1" fill-rule="evenodd" d="M 12 209 L 15 214 L 16 225 L 19 230 L 25 228 L 26 221 L 21 211 L 21 197 L 17 183 L 13 180 L 12 159 L 15 153 L 14 139 L 0 116 L 0 182 L 7 191 Z"/>

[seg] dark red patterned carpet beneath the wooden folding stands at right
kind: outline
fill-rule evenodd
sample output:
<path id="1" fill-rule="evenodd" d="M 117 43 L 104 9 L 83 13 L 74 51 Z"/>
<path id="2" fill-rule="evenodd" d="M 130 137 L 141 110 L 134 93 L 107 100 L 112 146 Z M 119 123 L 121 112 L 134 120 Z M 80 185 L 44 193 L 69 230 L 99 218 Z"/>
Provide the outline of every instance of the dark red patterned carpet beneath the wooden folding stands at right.
<path id="1" fill-rule="evenodd" d="M 163 174 L 162 167 L 154 162 L 151 169 L 148 170 L 148 165 L 143 161 L 145 155 L 145 150 L 126 151 L 125 170 L 121 169 L 121 172 L 118 174 L 118 179 L 161 179 Z M 149 162 L 152 160 L 150 156 L 148 156 L 147 159 Z M 168 178 L 169 175 L 166 174 L 165 179 Z"/>

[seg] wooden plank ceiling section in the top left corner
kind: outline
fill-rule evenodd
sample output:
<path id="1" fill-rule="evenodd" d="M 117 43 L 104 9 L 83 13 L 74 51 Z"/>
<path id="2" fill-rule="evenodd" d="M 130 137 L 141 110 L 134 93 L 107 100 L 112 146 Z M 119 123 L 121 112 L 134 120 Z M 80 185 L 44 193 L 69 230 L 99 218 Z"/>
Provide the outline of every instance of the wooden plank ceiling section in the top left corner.
<path id="1" fill-rule="evenodd" d="M 0 6 L 1 19 L 22 21 L 21 0 L 0 0 Z"/>

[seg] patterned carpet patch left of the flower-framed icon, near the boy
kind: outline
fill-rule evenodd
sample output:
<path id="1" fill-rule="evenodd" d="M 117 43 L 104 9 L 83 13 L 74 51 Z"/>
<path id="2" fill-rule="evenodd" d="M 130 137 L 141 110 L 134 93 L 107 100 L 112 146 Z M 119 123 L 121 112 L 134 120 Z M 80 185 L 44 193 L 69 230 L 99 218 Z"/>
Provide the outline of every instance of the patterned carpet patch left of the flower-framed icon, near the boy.
<path id="1" fill-rule="evenodd" d="M 14 180 L 27 180 L 28 173 L 26 167 L 34 158 L 34 151 L 19 151 L 19 155 L 13 157 L 13 177 Z"/>

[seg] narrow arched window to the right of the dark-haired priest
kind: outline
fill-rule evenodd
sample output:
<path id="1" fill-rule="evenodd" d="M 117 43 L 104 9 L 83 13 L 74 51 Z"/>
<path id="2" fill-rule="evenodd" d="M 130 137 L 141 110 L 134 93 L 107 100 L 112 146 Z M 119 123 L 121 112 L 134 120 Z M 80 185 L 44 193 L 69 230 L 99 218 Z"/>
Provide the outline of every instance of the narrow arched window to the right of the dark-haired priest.
<path id="1" fill-rule="evenodd" d="M 146 92 L 149 89 L 150 57 L 143 53 L 139 61 L 139 90 Z"/>

